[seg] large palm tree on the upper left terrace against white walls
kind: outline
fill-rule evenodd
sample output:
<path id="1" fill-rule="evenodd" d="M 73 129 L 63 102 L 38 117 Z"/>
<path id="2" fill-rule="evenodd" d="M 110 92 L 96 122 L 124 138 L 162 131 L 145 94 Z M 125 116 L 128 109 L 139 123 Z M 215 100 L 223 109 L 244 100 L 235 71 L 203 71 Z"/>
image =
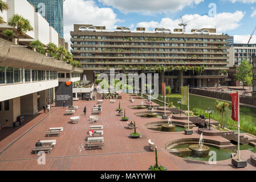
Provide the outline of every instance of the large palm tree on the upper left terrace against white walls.
<path id="1" fill-rule="evenodd" d="M 29 20 L 23 18 L 21 15 L 18 15 L 18 14 L 11 16 L 11 18 L 8 20 L 8 25 L 16 28 L 18 45 L 19 45 L 20 36 L 22 36 L 23 34 L 26 34 L 27 31 L 33 30 L 33 27 L 31 26 Z"/>

